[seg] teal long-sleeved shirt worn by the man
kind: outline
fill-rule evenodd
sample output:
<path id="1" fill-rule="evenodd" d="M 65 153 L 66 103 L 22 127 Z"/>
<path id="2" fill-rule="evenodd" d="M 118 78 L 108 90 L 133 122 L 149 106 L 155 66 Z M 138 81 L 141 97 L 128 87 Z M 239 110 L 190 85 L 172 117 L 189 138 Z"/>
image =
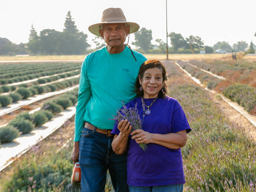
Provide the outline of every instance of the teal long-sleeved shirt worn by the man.
<path id="1" fill-rule="evenodd" d="M 128 47 L 110 54 L 106 47 L 87 55 L 81 66 L 74 141 L 79 141 L 84 121 L 100 128 L 114 127 L 116 110 L 136 97 L 134 84 L 146 58 Z"/>

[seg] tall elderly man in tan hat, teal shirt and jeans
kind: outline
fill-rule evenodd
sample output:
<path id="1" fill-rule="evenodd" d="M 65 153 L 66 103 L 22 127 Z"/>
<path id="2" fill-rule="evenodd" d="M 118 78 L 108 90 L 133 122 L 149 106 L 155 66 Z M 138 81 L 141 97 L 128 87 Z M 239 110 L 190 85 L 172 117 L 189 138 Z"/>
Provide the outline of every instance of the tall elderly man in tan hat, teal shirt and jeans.
<path id="1" fill-rule="evenodd" d="M 139 29 L 127 22 L 120 8 L 108 8 L 100 23 L 89 31 L 101 36 L 107 46 L 88 54 L 81 66 L 72 160 L 80 163 L 81 191 L 104 192 L 109 170 L 115 192 L 128 192 L 126 153 L 112 150 L 116 110 L 136 97 L 134 84 L 146 58 L 124 44 L 126 37 Z"/>

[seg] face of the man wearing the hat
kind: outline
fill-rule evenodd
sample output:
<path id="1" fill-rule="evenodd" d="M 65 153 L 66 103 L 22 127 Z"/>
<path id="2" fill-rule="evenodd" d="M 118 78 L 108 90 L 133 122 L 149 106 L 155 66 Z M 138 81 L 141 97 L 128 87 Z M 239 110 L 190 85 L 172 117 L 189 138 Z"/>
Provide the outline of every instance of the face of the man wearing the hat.
<path id="1" fill-rule="evenodd" d="M 124 23 L 104 24 L 100 34 L 108 46 L 118 47 L 124 44 L 129 29 Z"/>

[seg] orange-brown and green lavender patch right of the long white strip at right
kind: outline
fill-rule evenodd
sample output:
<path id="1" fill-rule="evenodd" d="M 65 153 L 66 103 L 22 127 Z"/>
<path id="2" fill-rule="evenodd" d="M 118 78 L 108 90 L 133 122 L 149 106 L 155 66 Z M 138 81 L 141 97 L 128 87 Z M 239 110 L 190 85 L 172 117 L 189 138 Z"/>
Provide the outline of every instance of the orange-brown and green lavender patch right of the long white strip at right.
<path id="1" fill-rule="evenodd" d="M 207 63 L 208 62 L 208 63 Z M 256 66 L 248 61 L 207 61 L 201 62 L 191 60 L 190 63 L 208 70 L 214 74 L 221 75 L 226 80 L 221 80 L 212 76 L 188 62 L 179 61 L 178 64 L 188 71 L 192 76 L 198 78 L 208 89 L 222 93 L 230 100 L 237 102 L 240 106 L 252 114 L 256 115 Z"/>

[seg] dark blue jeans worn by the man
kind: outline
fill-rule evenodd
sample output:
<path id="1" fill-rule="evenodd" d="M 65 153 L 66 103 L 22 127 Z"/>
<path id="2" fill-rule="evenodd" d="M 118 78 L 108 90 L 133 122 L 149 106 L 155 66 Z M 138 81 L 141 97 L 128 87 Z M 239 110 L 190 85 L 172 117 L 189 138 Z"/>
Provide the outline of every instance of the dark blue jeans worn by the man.
<path id="1" fill-rule="evenodd" d="M 112 150 L 113 136 L 107 137 L 87 128 L 82 129 L 79 142 L 81 192 L 104 192 L 109 170 L 115 192 L 129 192 L 127 181 L 127 153 L 117 155 Z"/>

